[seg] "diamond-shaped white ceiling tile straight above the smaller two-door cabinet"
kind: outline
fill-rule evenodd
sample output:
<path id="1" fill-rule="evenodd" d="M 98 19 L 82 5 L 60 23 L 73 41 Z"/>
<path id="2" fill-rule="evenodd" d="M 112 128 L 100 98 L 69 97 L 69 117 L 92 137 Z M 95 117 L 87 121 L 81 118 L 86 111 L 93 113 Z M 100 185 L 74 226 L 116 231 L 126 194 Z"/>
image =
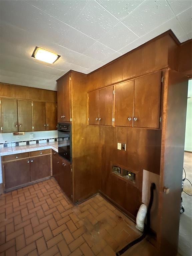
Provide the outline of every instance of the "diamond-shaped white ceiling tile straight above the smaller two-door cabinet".
<path id="1" fill-rule="evenodd" d="M 87 55 L 98 61 L 103 61 L 106 58 L 109 58 L 115 53 L 114 50 L 108 48 L 107 46 L 97 42 L 90 48 L 88 48 L 83 54 Z"/>

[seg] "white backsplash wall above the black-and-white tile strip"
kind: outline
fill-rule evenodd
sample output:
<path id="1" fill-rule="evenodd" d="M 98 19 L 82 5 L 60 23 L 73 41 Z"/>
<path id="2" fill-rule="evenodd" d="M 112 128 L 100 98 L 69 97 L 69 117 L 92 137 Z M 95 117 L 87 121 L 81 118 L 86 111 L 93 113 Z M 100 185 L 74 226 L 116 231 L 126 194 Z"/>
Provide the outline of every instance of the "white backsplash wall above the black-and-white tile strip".
<path id="1" fill-rule="evenodd" d="M 30 134 L 33 134 L 33 138 L 30 137 Z M 57 138 L 57 131 L 25 132 L 24 135 L 20 135 L 20 136 L 15 136 L 13 135 L 13 133 L 0 133 L 0 144 L 18 142 L 18 141 L 52 139 L 52 138 Z M 39 141 L 39 143 L 40 142 L 41 141 Z M 42 141 L 42 142 L 46 142 L 46 141 Z M 3 145 L 0 145 L 0 147 L 2 148 Z M 2 183 L 1 157 L 0 157 L 0 183 Z"/>

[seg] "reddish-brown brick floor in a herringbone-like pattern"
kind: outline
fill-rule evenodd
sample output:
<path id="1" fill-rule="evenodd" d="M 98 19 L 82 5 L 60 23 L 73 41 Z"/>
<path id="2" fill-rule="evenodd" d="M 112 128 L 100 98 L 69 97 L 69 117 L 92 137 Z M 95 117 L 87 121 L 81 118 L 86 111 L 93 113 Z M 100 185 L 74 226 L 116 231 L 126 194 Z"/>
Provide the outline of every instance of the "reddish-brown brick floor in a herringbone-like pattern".
<path id="1" fill-rule="evenodd" d="M 54 179 L 0 195 L 0 256 L 115 256 L 139 235 L 100 195 L 73 205 Z"/>

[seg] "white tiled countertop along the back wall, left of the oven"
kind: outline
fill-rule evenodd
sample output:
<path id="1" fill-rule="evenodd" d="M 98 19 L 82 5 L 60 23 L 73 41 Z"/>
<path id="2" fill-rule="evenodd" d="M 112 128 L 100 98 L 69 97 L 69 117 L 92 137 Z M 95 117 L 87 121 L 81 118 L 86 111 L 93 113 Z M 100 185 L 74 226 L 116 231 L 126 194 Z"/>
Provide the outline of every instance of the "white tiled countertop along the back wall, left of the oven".
<path id="1" fill-rule="evenodd" d="M 1 148 L 0 156 L 13 155 L 18 153 L 25 153 L 25 152 L 37 151 L 37 150 L 43 150 L 43 149 L 49 149 L 49 148 L 58 152 L 58 143 L 47 142 L 47 143 L 31 144 L 26 146 L 5 147 L 5 148 Z"/>

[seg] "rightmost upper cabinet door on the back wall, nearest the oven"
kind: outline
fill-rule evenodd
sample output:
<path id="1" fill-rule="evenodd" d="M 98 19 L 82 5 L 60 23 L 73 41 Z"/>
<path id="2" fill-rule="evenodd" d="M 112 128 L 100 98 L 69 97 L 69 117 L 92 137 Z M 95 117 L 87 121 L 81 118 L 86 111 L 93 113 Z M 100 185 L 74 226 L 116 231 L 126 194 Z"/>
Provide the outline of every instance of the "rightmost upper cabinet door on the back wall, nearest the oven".
<path id="1" fill-rule="evenodd" d="M 45 103 L 46 130 L 57 130 L 57 104 L 54 102 Z"/>

